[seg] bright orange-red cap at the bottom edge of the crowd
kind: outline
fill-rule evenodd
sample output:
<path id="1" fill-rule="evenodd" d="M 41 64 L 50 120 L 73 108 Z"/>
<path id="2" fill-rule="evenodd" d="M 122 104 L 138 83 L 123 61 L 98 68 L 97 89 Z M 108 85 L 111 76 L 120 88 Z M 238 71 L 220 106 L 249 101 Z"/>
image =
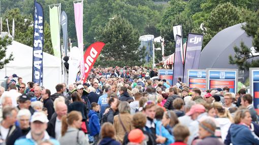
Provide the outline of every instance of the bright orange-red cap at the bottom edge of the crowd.
<path id="1" fill-rule="evenodd" d="M 141 143 L 145 139 L 145 135 L 140 129 L 133 129 L 127 136 L 130 142 Z"/>

